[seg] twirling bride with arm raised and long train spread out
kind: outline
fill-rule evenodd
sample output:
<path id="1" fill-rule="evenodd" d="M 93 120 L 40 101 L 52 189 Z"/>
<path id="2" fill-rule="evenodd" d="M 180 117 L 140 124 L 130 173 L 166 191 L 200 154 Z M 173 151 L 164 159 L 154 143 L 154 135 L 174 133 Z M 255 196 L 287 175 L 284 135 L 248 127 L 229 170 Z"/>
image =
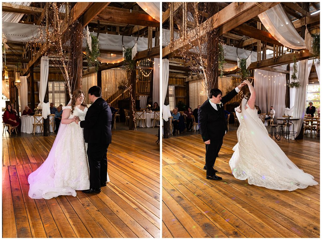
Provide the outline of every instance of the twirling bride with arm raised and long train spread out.
<path id="1" fill-rule="evenodd" d="M 270 138 L 257 116 L 254 87 L 245 80 L 250 93 L 245 95 L 239 107 L 235 108 L 240 122 L 237 130 L 238 143 L 229 161 L 232 174 L 248 184 L 274 190 L 293 191 L 316 185 L 314 177 L 299 169 Z"/>

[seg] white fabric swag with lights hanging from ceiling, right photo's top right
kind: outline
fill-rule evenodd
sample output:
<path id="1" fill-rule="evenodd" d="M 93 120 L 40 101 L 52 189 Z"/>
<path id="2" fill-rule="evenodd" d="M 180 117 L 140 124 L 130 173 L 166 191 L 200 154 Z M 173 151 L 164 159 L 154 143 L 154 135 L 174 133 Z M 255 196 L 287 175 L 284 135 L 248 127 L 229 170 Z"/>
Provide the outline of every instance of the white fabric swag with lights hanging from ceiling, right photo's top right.
<path id="1" fill-rule="evenodd" d="M 304 39 L 298 35 L 281 4 L 260 13 L 258 17 L 270 34 L 285 47 L 292 49 L 306 48 Z"/>

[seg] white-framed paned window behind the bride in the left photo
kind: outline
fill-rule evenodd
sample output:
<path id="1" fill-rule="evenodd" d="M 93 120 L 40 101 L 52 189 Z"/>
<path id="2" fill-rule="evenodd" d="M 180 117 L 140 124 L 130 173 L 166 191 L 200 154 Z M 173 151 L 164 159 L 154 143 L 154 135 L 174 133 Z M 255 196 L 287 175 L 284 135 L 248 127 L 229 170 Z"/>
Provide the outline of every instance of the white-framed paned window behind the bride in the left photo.
<path id="1" fill-rule="evenodd" d="M 55 107 L 60 104 L 66 105 L 66 88 L 64 82 L 48 82 L 49 102 L 53 103 Z"/>

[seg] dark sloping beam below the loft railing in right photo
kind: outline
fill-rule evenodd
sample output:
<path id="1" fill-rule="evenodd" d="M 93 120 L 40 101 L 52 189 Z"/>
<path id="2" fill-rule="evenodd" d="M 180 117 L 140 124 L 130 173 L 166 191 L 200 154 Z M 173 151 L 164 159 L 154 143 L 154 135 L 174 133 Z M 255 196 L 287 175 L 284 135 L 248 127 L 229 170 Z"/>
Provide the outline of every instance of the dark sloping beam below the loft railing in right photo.
<path id="1" fill-rule="evenodd" d="M 313 55 L 309 53 L 308 50 L 305 50 L 304 52 L 300 51 L 300 53 L 295 52 L 295 53 L 284 54 L 275 59 L 269 58 L 269 59 L 261 60 L 260 64 L 258 64 L 257 62 L 253 62 L 251 63 L 248 69 L 252 70 L 252 69 L 258 69 L 263 67 L 271 67 L 276 65 L 292 63 L 294 61 L 293 60 L 294 56 L 296 57 L 297 61 L 313 57 Z"/>

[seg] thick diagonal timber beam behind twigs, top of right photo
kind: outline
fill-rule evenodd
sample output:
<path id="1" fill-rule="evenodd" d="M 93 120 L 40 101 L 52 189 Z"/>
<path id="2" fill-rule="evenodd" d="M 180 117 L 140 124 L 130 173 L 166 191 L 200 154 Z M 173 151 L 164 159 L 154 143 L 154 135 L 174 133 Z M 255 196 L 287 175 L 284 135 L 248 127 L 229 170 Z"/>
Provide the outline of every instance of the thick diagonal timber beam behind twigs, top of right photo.
<path id="1" fill-rule="evenodd" d="M 267 3 L 261 2 L 260 3 L 265 8 L 271 8 L 278 2 L 274 3 Z M 258 14 L 265 12 L 265 9 L 256 5 L 255 2 L 244 2 L 241 5 L 236 6 L 235 3 L 229 4 L 223 10 L 219 11 L 218 13 L 214 14 L 208 20 L 201 24 L 201 28 L 208 24 L 208 22 L 213 22 L 212 29 L 216 29 L 220 27 L 220 33 L 223 34 L 232 30 L 233 28 L 241 25 L 245 21 L 257 16 Z M 192 35 L 192 32 L 187 33 L 188 36 Z M 178 50 L 181 47 L 188 47 L 188 45 L 184 45 L 184 43 L 180 43 L 179 40 L 173 43 L 173 47 L 166 46 L 162 49 L 162 57 L 169 55 L 170 53 Z"/>

